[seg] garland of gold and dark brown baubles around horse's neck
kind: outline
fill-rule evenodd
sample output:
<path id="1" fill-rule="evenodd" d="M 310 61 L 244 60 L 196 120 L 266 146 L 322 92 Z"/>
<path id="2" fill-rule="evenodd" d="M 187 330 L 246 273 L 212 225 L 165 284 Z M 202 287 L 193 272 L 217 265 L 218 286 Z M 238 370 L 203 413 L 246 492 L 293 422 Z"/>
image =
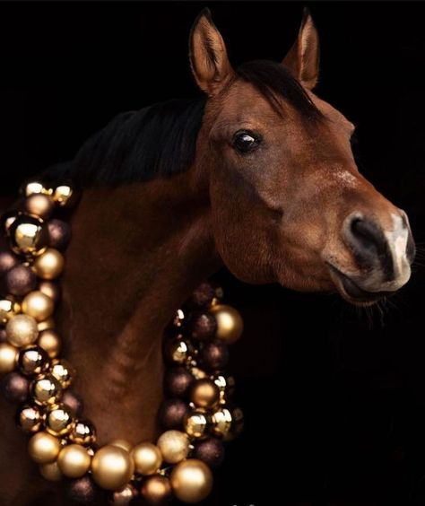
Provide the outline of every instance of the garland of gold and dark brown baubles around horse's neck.
<path id="1" fill-rule="evenodd" d="M 50 481 L 65 480 L 77 502 L 99 494 L 124 505 L 142 496 L 162 504 L 173 496 L 202 501 L 212 489 L 211 468 L 224 457 L 222 441 L 238 435 L 240 409 L 230 403 L 234 379 L 224 373 L 228 345 L 239 339 L 237 310 L 221 303 L 217 286 L 201 284 L 164 335 L 165 400 L 159 420 L 165 432 L 153 444 L 125 440 L 96 445 L 93 424 L 82 418 L 82 400 L 68 388 L 74 369 L 59 358 L 53 319 L 60 301 L 57 279 L 69 225 L 54 218 L 72 207 L 71 184 L 55 188 L 34 180 L 22 188 L 22 204 L 4 214 L 6 245 L 0 250 L 0 374 L 4 397 L 17 405 L 17 422 L 30 434 L 30 457 Z"/>

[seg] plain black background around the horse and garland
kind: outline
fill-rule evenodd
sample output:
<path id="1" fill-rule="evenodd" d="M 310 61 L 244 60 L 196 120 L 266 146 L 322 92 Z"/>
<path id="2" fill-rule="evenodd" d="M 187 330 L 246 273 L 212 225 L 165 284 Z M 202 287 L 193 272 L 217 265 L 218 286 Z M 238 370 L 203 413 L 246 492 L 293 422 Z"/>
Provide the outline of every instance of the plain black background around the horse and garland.
<path id="1" fill-rule="evenodd" d="M 307 4 L 321 39 L 317 93 L 358 125 L 361 170 L 407 211 L 421 247 L 425 5 Z M 118 112 L 195 96 L 187 35 L 206 5 L 234 65 L 282 59 L 302 11 L 287 2 L 0 4 L 0 194 L 72 158 Z M 208 504 L 425 505 L 421 256 L 384 314 L 217 278 L 246 319 L 232 360 L 247 422 Z"/>

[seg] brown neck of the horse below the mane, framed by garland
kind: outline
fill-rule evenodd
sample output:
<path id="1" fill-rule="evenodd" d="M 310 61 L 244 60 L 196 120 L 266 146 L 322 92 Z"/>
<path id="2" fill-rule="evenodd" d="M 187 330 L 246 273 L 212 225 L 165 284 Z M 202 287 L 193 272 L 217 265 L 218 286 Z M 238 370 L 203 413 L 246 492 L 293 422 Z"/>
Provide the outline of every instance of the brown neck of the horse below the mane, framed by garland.
<path id="1" fill-rule="evenodd" d="M 82 194 L 60 327 L 100 441 L 124 433 L 136 442 L 156 432 L 163 329 L 220 266 L 209 222 L 190 172 Z"/>

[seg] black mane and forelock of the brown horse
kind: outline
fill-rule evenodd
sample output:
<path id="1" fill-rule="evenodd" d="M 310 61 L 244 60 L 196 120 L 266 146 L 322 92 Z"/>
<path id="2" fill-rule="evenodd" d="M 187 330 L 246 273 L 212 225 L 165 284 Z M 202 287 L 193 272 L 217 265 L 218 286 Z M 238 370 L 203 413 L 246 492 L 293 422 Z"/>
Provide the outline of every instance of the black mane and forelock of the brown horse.
<path id="1" fill-rule="evenodd" d="M 239 79 L 252 83 L 282 117 L 279 99 L 288 101 L 301 118 L 321 117 L 308 94 L 281 64 L 257 60 L 240 65 Z M 56 165 L 41 176 L 70 178 L 80 187 L 117 186 L 168 178 L 189 169 L 206 98 L 168 100 L 112 119 L 82 145 L 74 161 Z"/>

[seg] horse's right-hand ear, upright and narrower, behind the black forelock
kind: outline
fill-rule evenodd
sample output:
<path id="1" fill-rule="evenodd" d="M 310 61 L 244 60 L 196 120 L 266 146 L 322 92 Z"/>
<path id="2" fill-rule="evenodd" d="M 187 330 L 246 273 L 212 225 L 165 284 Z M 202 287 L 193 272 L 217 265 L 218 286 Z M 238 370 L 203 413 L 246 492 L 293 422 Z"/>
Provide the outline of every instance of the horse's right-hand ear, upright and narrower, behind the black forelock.
<path id="1" fill-rule="evenodd" d="M 319 39 L 313 18 L 306 7 L 299 28 L 298 38 L 282 64 L 289 67 L 295 77 L 312 90 L 318 80 L 319 71 Z"/>

